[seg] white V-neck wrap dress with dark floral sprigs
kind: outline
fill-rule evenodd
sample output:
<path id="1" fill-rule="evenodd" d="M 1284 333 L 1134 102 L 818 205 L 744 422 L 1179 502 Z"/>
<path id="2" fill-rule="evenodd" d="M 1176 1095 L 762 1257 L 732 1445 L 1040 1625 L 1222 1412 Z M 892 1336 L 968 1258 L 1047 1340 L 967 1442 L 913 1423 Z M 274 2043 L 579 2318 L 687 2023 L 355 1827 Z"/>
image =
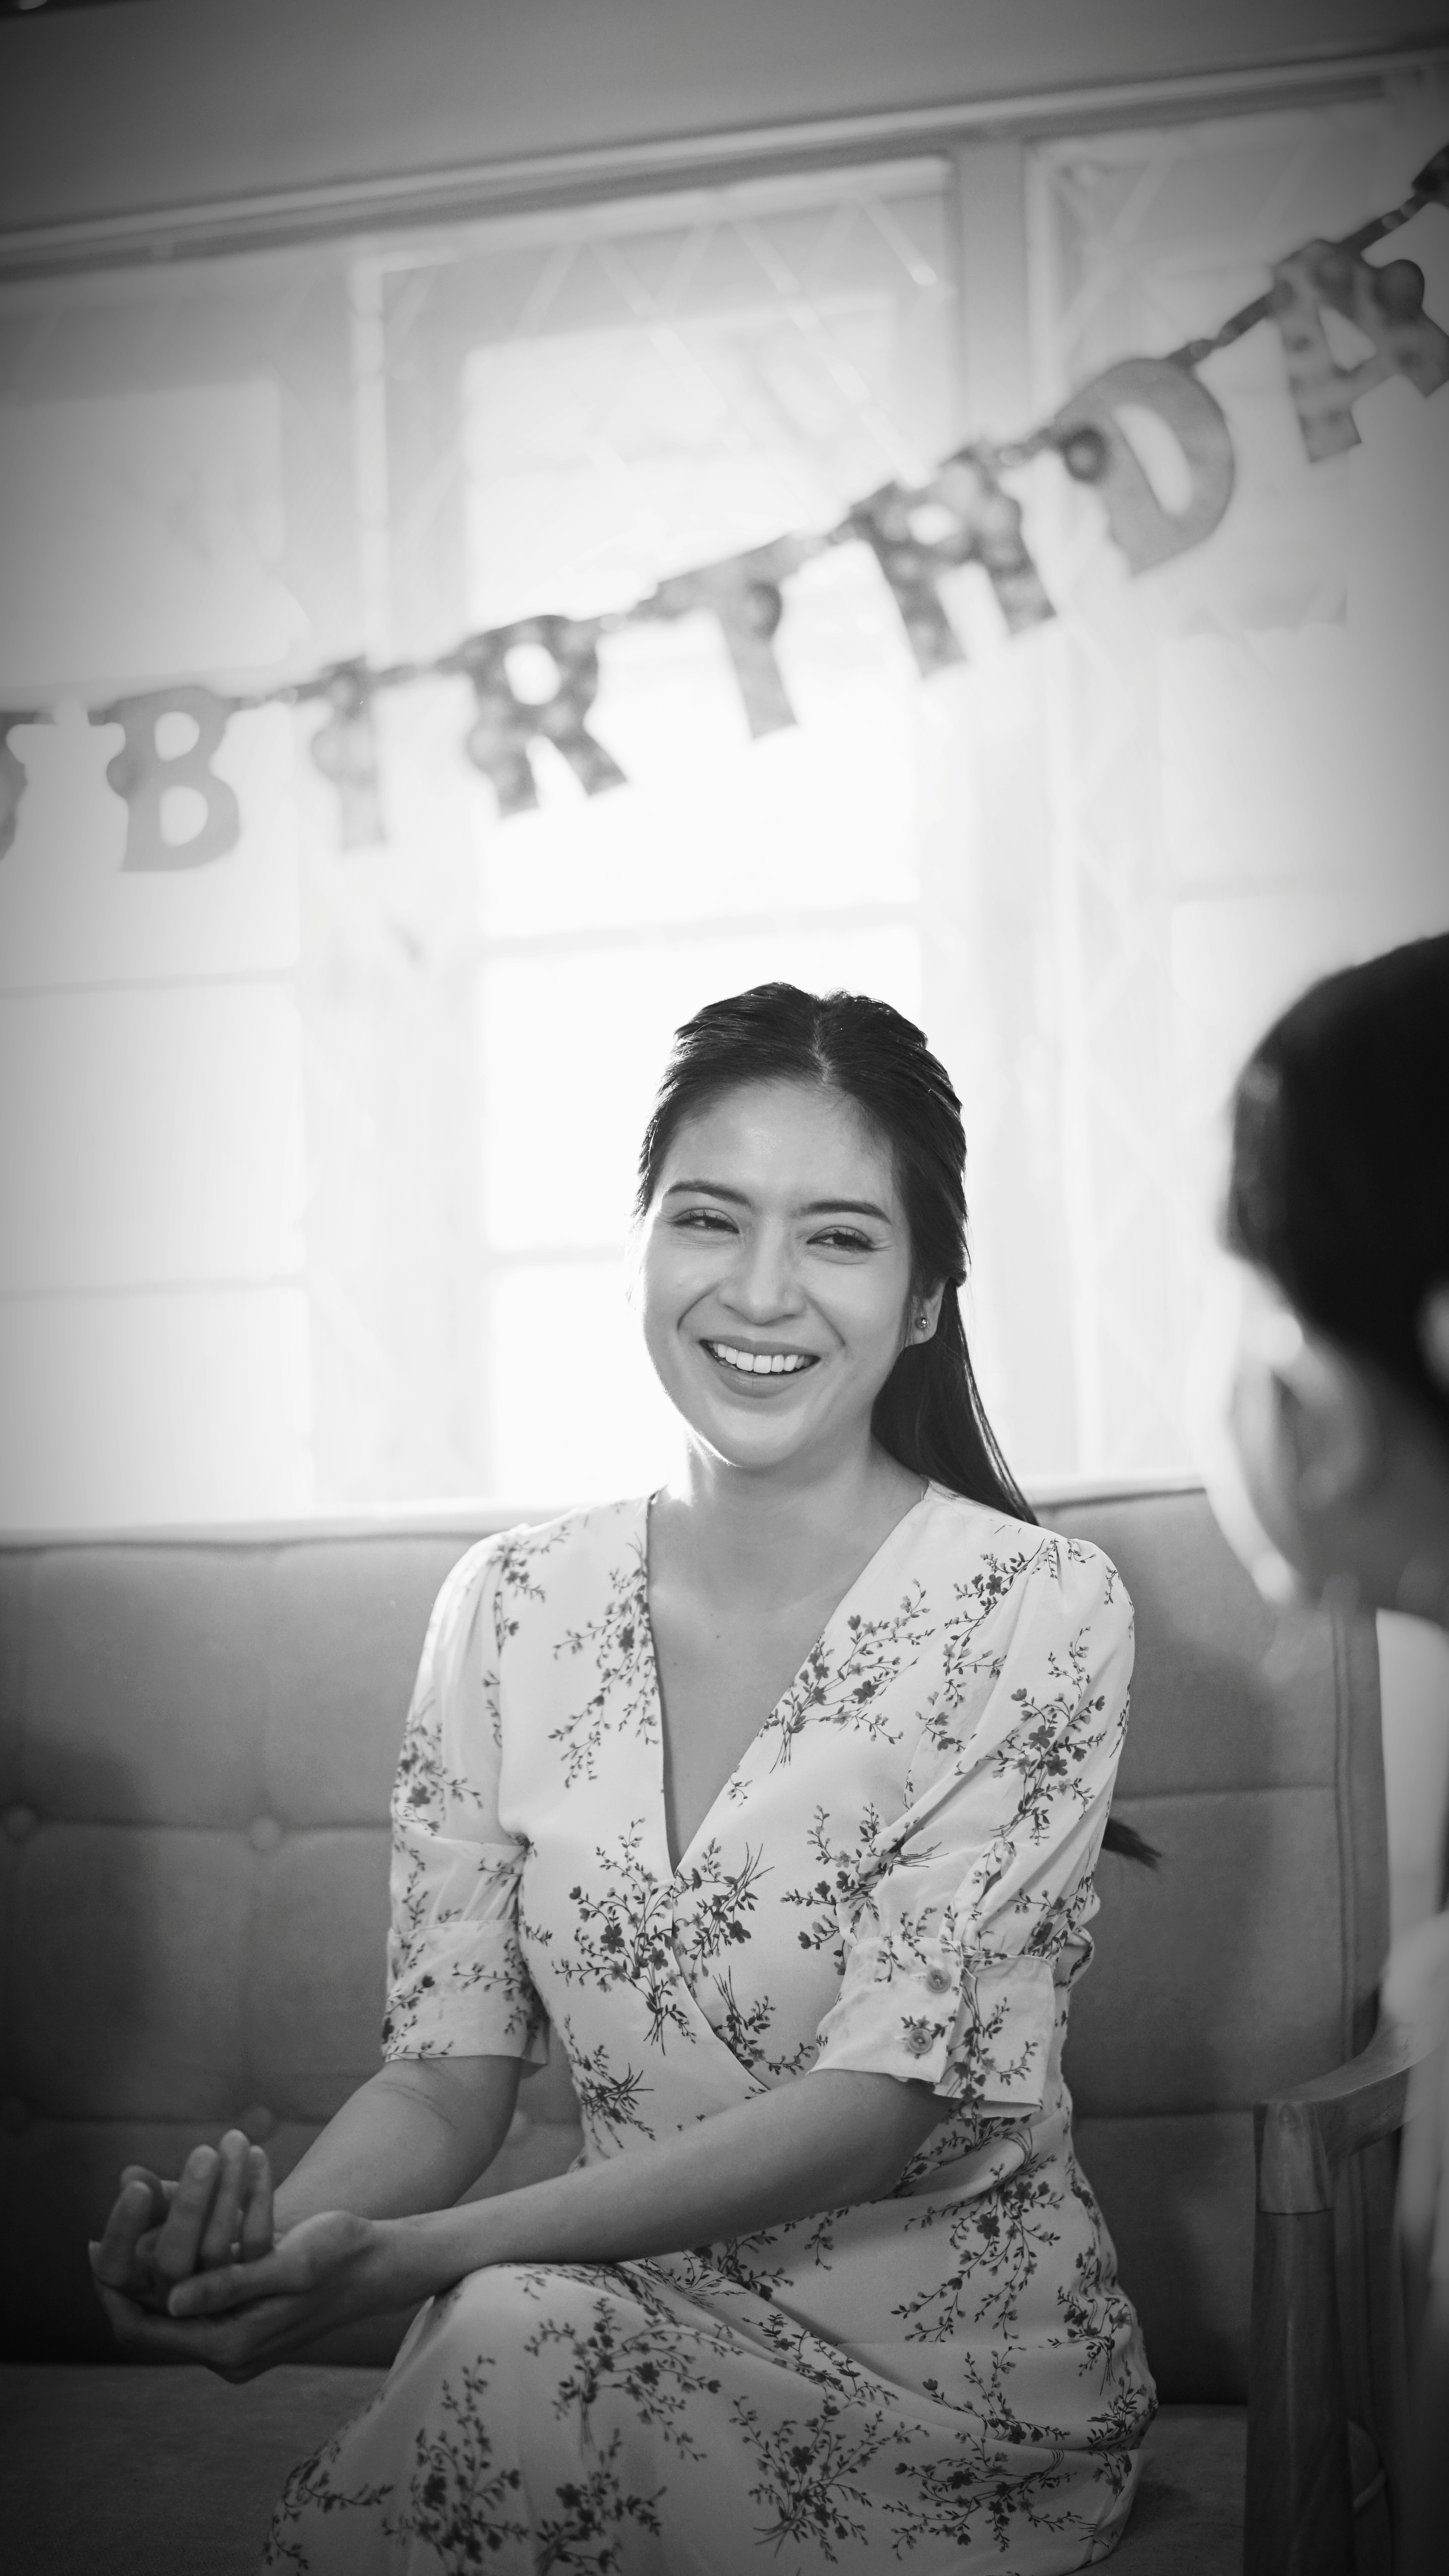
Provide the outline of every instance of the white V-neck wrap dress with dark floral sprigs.
<path id="1" fill-rule="evenodd" d="M 949 2110 L 884 2200 L 472 2272 L 294 2470 L 266 2566 L 1106 2558 L 1152 2383 L 1062 2032 L 1129 1669 L 1106 1556 L 931 1486 L 673 1868 L 647 1502 L 464 1556 L 397 1775 L 387 2053 L 536 2063 L 552 2022 L 590 2161 L 807 2069 Z"/>

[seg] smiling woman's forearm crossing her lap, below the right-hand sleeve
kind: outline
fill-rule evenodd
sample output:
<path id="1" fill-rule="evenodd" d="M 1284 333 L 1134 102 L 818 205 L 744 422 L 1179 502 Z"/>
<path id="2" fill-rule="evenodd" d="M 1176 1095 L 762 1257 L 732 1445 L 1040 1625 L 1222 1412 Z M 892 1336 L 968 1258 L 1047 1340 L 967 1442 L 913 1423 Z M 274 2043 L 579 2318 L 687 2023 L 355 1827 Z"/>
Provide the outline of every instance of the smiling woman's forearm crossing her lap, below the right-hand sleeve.
<path id="1" fill-rule="evenodd" d="M 895 2076 L 810 2074 L 637 2154 L 405 2218 L 418 2280 L 495 2262 L 621 2262 L 890 2192 L 946 2105 Z"/>

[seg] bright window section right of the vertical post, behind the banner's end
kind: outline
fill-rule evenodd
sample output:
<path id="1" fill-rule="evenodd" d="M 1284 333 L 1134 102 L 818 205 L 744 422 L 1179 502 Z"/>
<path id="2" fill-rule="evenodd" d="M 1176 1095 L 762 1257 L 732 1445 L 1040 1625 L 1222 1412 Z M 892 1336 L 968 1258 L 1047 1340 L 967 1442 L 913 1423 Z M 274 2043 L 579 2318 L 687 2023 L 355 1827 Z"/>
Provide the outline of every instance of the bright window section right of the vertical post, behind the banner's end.
<path id="1" fill-rule="evenodd" d="M 1266 268 L 1408 193 L 1449 93 L 1042 149 L 1039 394 L 1212 332 Z M 1439 209 L 1413 258 L 1449 322 Z M 1338 317 L 1333 314 L 1336 325 Z M 1343 327 L 1343 363 L 1366 343 Z M 1062 487 L 1049 641 L 1062 1224 L 1078 1463 L 1189 1463 L 1183 1355 L 1220 1188 L 1222 1103 L 1312 976 L 1449 922 L 1449 397 L 1390 379 L 1361 446 L 1307 464 L 1271 325 L 1209 358 L 1238 489 L 1207 546 L 1127 585 Z M 1150 446 L 1142 448 L 1155 469 Z M 1165 461 L 1171 469 L 1171 459 Z"/>

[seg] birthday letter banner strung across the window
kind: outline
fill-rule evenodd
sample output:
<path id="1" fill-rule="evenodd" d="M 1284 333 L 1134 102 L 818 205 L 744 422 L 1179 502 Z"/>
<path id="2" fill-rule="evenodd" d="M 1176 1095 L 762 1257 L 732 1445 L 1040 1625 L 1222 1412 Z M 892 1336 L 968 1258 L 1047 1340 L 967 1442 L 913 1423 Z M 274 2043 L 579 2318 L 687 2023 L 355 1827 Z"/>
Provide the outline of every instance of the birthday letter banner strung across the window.
<path id="1" fill-rule="evenodd" d="M 472 683 L 474 711 L 464 737 L 467 757 L 490 781 L 500 817 L 526 814 L 539 801 L 531 750 L 552 742 L 588 796 L 621 786 L 624 770 L 590 734 L 598 693 L 601 639 L 655 618 L 706 611 L 717 618 L 750 737 L 794 724 L 776 659 L 776 634 L 789 611 L 789 582 L 802 564 L 830 546 L 866 544 L 890 585 L 910 652 L 923 677 L 964 662 L 964 644 L 946 616 L 941 580 L 977 564 L 990 582 L 1011 636 L 1052 618 L 1052 600 L 1021 533 L 1021 505 L 1003 487 L 1003 471 L 1055 453 L 1073 482 L 1098 495 L 1106 526 L 1132 574 L 1152 572 L 1207 544 L 1232 500 L 1235 453 L 1222 404 L 1199 379 L 1199 366 L 1240 340 L 1258 322 L 1281 337 L 1289 394 L 1310 461 L 1341 456 L 1359 443 L 1354 404 L 1387 376 L 1405 376 L 1421 394 L 1449 381 L 1449 332 L 1423 312 L 1423 270 L 1413 260 L 1372 265 L 1364 252 L 1408 224 L 1423 206 L 1449 209 L 1449 144 L 1413 180 L 1392 214 L 1374 216 L 1343 242 L 1305 242 L 1279 260 L 1271 283 L 1222 330 L 1189 340 L 1165 358 L 1124 358 L 1024 438 L 1003 446 L 972 440 L 941 461 L 923 484 L 887 482 L 866 492 L 828 533 L 779 536 L 768 546 L 732 554 L 719 564 L 676 572 L 634 608 L 598 618 L 534 616 L 464 636 L 436 662 L 371 667 L 366 659 L 333 662 L 307 680 L 289 680 L 258 696 L 222 696 L 201 680 L 144 690 L 93 706 L 93 724 L 119 724 L 124 744 L 106 768 L 126 804 L 124 868 L 204 868 L 235 850 L 242 829 L 237 796 L 211 768 L 235 714 L 255 706 L 322 706 L 312 734 L 312 760 L 338 793 L 345 850 L 384 837 L 379 801 L 379 750 L 374 701 L 384 688 L 456 672 Z M 1369 345 L 1354 366 L 1330 348 L 1325 312 L 1354 322 Z M 1186 466 L 1186 500 L 1165 507 L 1124 428 L 1124 412 L 1150 412 L 1168 430 Z M 518 644 L 544 647 L 554 688 L 541 701 L 521 698 L 508 675 Z M 178 726 L 191 719 L 186 750 Z M 26 793 L 26 768 L 10 734 L 49 724 L 46 708 L 0 708 L 0 858 L 15 837 Z M 162 734 L 165 729 L 165 734 Z M 180 729 L 186 734 L 186 726 Z M 168 788 L 201 799 L 201 824 L 183 842 L 162 835 Z"/>

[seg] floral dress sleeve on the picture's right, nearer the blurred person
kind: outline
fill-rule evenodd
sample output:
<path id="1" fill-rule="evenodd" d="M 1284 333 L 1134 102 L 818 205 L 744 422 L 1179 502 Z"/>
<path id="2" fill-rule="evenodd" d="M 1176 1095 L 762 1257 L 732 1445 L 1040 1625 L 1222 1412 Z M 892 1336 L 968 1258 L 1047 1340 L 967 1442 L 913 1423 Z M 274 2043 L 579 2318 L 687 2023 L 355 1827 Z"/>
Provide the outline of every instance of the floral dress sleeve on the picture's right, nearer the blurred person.
<path id="1" fill-rule="evenodd" d="M 1034 2110 L 1057 1984 L 1085 1955 L 1132 1680 L 1132 1602 L 1098 1548 L 1044 1535 L 946 1654 L 908 1806 L 846 1922 L 817 2069 Z"/>

